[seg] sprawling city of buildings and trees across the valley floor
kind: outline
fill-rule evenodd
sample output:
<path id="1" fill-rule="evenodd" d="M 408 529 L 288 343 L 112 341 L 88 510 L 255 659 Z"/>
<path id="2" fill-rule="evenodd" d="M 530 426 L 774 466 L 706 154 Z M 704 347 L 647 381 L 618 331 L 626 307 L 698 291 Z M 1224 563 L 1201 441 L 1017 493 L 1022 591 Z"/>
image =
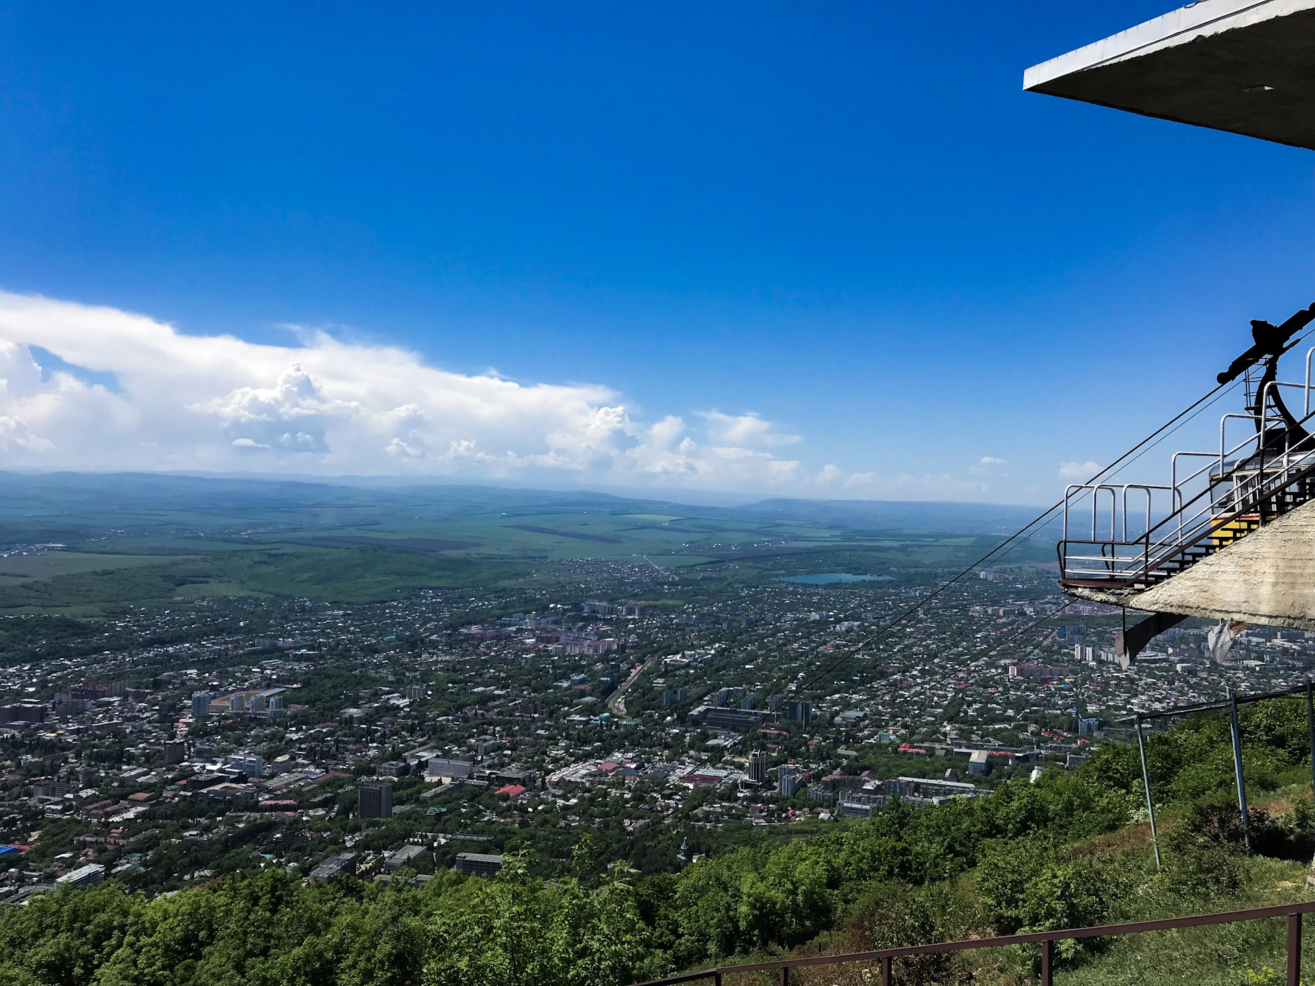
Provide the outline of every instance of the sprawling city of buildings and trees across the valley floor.
<path id="1" fill-rule="evenodd" d="M 1299 684 L 1315 653 L 1256 627 L 1211 657 L 1191 621 L 1124 670 L 1120 613 L 1072 605 L 1044 563 L 974 573 L 864 646 L 955 571 L 798 563 L 5 615 L 0 902 L 263 868 L 422 883 L 526 851 L 551 876 L 586 833 L 672 872 L 1072 769 L 1136 711 Z"/>

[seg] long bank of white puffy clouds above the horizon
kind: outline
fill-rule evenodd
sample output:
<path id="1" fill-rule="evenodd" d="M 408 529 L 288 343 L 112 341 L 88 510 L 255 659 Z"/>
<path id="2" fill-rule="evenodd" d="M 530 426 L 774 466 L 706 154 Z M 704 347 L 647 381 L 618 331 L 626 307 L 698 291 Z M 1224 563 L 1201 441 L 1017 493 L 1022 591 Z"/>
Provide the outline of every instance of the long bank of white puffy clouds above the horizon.
<path id="1" fill-rule="evenodd" d="M 810 472 L 753 413 L 631 417 L 605 385 L 466 376 L 385 344 L 185 335 L 146 316 L 0 292 L 7 468 L 413 475 L 811 497 L 976 500 L 970 480 Z M 994 464 L 1003 460 L 982 459 Z"/>

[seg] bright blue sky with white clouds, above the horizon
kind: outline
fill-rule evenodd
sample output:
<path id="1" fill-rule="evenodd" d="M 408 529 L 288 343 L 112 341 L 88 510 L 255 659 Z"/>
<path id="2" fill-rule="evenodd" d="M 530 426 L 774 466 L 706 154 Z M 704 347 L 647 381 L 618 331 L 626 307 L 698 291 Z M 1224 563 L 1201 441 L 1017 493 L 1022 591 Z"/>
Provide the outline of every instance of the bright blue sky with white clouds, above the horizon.
<path id="1" fill-rule="evenodd" d="M 0 408 L 5 458 L 1048 502 L 1315 300 L 1307 153 L 1022 92 L 1168 9 L 8 4 L 0 289 L 51 304 L 0 338 L 87 373 Z M 83 306 L 251 343 L 209 430 L 138 397 L 200 387 L 197 347 L 129 359 L 154 330 Z M 317 331 L 414 354 L 417 394 L 556 397 L 347 434 L 387 372 L 302 360 Z"/>

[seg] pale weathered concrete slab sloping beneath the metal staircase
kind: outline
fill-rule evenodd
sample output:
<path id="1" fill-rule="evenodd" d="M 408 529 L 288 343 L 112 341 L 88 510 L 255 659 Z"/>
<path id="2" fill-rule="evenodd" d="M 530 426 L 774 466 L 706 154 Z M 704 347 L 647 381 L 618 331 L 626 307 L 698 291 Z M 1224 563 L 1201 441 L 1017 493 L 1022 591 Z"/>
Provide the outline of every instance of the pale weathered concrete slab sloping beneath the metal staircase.
<path id="1" fill-rule="evenodd" d="M 1315 630 L 1315 500 L 1153 589 L 1068 592 L 1149 613 Z"/>

